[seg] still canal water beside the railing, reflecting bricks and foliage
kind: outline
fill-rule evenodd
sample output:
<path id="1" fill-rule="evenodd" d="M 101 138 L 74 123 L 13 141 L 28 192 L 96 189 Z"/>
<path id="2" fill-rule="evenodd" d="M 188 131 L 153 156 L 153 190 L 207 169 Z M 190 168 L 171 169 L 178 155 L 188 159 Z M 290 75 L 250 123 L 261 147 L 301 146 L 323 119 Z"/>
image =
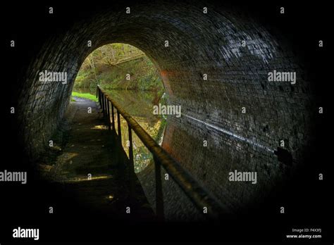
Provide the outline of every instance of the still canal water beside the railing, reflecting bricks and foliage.
<path id="1" fill-rule="evenodd" d="M 75 90 L 76 92 L 87 92 Z M 92 89 L 91 94 L 95 93 Z M 159 97 L 151 92 L 108 91 L 109 95 L 132 115 L 163 149 L 175 158 L 202 186 L 223 203 L 227 210 L 242 211 L 250 205 L 256 206 L 266 199 L 276 187 L 289 176 L 290 168 L 278 162 L 273 151 L 241 140 L 247 135 L 227 133 L 228 129 L 216 130 L 203 120 L 187 116 L 183 111 L 181 118 L 169 116 L 167 120 L 153 115 L 153 105 Z M 124 149 L 128 149 L 128 126 L 121 121 Z M 135 172 L 142 188 L 155 207 L 155 175 L 151 153 L 135 134 L 134 142 Z M 257 140 L 257 139 L 254 139 Z M 204 141 L 207 145 L 204 145 Z M 266 146 L 266 142 L 258 142 Z M 271 146 L 271 148 L 273 148 Z M 251 182 L 229 181 L 233 171 L 256 172 L 256 184 Z M 187 199 L 177 184 L 162 170 L 163 200 L 165 215 L 169 220 L 202 219 L 192 202 Z"/>

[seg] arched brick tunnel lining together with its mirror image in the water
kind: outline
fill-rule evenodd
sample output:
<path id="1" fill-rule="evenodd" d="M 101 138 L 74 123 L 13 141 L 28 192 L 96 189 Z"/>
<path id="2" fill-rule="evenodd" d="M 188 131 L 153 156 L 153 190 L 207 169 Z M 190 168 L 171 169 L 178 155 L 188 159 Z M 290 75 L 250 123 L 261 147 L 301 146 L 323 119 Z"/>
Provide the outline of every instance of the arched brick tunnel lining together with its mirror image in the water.
<path id="1" fill-rule="evenodd" d="M 303 50 L 290 42 L 292 30 L 285 38 L 255 8 L 230 2 L 125 1 L 78 12 L 56 6 L 56 15 L 48 13 L 50 6 L 39 6 L 35 11 L 44 15 L 32 23 L 14 25 L 22 33 L 12 35 L 15 55 L 25 54 L 11 60 L 18 63 L 13 127 L 32 168 L 68 109 L 83 61 L 113 43 L 137 47 L 156 65 L 168 103 L 182 108 L 180 118 L 168 118 L 163 149 L 231 213 L 275 196 L 306 163 L 321 103 Z M 32 38 L 20 43 L 25 36 Z M 67 73 L 66 83 L 41 83 L 39 74 L 48 70 Z M 295 82 L 268 81 L 276 72 L 294 73 Z M 235 170 L 258 172 L 259 184 L 229 182 Z M 153 167 L 138 174 L 148 199 L 153 177 Z M 175 183 L 163 188 L 166 216 L 197 219 Z"/>

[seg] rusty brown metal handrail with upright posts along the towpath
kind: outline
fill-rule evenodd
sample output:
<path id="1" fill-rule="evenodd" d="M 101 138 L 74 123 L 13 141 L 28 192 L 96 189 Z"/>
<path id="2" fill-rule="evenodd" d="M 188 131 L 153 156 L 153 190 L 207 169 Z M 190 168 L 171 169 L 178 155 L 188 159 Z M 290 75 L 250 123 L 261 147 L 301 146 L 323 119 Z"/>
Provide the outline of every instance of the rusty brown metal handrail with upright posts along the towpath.
<path id="1" fill-rule="evenodd" d="M 166 151 L 164 151 L 154 139 L 133 119 L 127 112 L 121 108 L 116 101 L 113 101 L 106 92 L 97 86 L 97 97 L 102 108 L 104 117 L 107 119 L 109 130 L 115 130 L 114 113 L 116 109 L 118 140 L 121 144 L 120 115 L 128 122 L 129 134 L 129 163 L 130 163 L 130 192 L 133 193 L 135 188 L 135 168 L 132 150 L 132 130 L 137 134 L 142 143 L 149 149 L 154 158 L 155 179 L 156 179 L 156 215 L 163 219 L 163 191 L 161 183 L 161 166 L 171 175 L 173 180 L 178 184 L 180 189 L 188 196 L 190 201 L 199 209 L 199 212 L 206 213 L 210 218 L 219 218 L 225 213 L 225 210 L 213 196 L 208 194 L 194 178 L 186 172 L 178 162 L 176 162 Z M 110 116 L 111 115 L 111 116 Z M 111 118 L 111 120 L 110 120 Z M 204 209 L 206 208 L 206 212 Z"/>

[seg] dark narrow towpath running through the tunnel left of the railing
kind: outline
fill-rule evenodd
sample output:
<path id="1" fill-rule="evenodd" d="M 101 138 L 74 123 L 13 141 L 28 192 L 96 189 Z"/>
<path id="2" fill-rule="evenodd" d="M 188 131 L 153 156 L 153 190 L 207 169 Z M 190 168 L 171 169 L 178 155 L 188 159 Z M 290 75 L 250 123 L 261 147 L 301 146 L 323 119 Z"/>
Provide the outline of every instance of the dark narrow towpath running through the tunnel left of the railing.
<path id="1" fill-rule="evenodd" d="M 63 191 L 64 199 L 54 201 L 63 208 L 73 206 L 78 214 L 88 211 L 113 219 L 153 219 L 139 181 L 135 199 L 130 198 L 125 153 L 106 127 L 97 103 L 74 99 L 58 129 L 61 137 L 55 137 L 62 141 L 53 149 L 58 156 L 47 170 L 48 179 Z M 128 215 L 127 207 L 135 215 Z"/>

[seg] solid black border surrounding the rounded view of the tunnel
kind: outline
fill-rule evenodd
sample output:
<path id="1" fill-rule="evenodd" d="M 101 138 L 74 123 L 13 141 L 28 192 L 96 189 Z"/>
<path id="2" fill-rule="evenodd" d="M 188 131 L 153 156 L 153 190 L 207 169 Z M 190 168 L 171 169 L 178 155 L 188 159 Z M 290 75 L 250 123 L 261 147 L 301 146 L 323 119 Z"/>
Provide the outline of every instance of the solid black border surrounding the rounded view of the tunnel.
<path id="1" fill-rule="evenodd" d="M 285 234 L 292 234 L 292 228 L 322 229 L 321 240 L 333 242 L 333 172 L 330 99 L 333 82 L 330 60 L 332 11 L 323 1 L 313 3 L 283 3 L 282 1 L 245 2 L 230 4 L 257 18 L 270 32 L 281 34 L 289 42 L 296 56 L 302 58 L 311 75 L 317 102 L 315 111 L 323 106 L 324 114 L 314 122 L 316 142 L 309 149 L 308 161 L 297 175 L 281 191 L 256 207 L 250 207 L 245 214 L 233 220 L 222 220 L 219 225 L 211 223 L 170 223 L 169 225 L 130 225 L 119 220 L 103 219 L 92 213 L 76 216 L 66 213 L 66 208 L 56 209 L 50 215 L 48 207 L 60 196 L 50 184 L 34 176 L 30 164 L 22 152 L 24 146 L 18 142 L 15 115 L 10 114 L 11 106 L 16 106 L 18 86 L 24 78 L 18 76 L 36 54 L 39 45 L 49 35 L 61 34 L 76 20 L 87 18 L 99 8 L 131 6 L 130 1 L 110 4 L 97 2 L 70 3 L 69 1 L 42 4 L 19 4 L 11 1 L 1 5 L 1 46 L 2 93 L 1 93 L 1 165 L 0 170 L 27 170 L 27 184 L 2 182 L 0 185 L 0 243 L 18 241 L 13 239 L 13 229 L 20 227 L 39 228 L 39 241 L 291 241 Z M 141 4 L 149 4 L 142 1 Z M 54 7 L 54 15 L 47 9 Z M 280 15 L 280 6 L 285 14 Z M 16 40 L 16 48 L 9 46 Z M 324 46 L 318 48 L 318 40 Z M 323 172 L 324 180 L 318 181 L 318 173 Z M 285 206 L 285 214 L 278 213 Z M 78 213 L 80 207 L 78 206 Z M 63 215 L 58 213 L 63 212 Z M 20 241 L 32 241 L 32 239 Z M 298 240 L 303 242 L 304 240 Z M 4 243 L 6 244 L 6 243 Z"/>

